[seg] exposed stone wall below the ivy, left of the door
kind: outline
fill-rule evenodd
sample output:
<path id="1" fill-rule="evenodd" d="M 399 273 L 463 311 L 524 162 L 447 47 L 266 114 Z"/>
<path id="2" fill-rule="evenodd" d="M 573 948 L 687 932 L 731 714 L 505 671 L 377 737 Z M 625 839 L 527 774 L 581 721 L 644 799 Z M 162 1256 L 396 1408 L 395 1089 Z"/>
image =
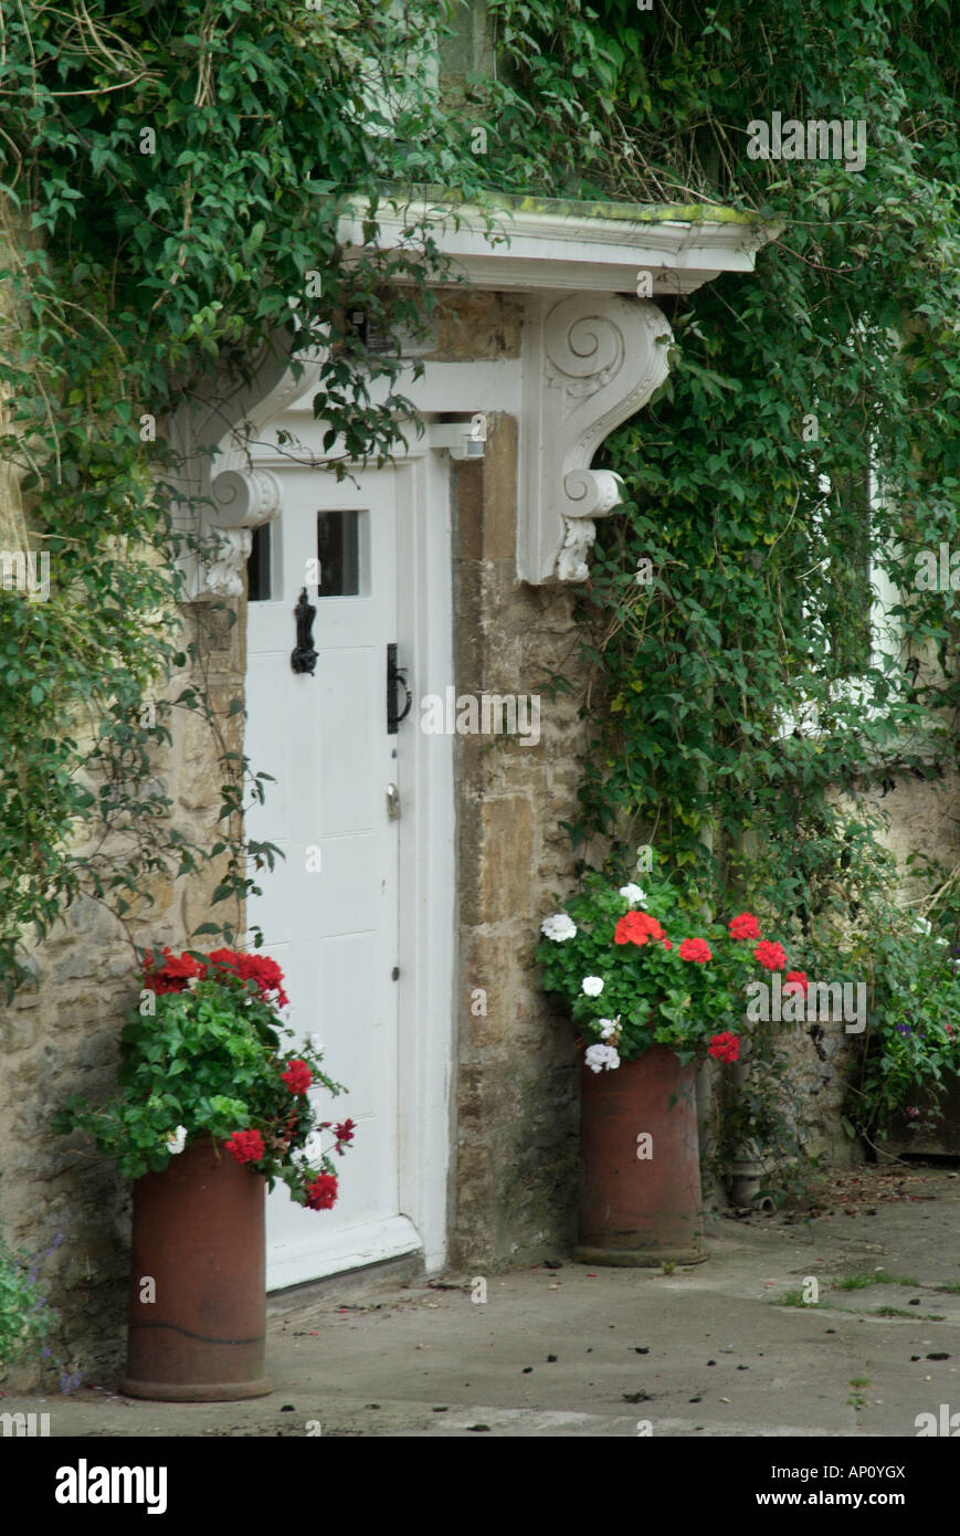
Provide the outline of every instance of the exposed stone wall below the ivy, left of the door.
<path id="1" fill-rule="evenodd" d="M 210 693 L 237 750 L 241 716 L 226 720 L 226 707 L 243 693 L 243 625 L 230 628 L 223 613 L 200 607 L 214 630 Z M 187 616 L 190 630 L 198 616 Z M 175 699 L 186 682 L 172 679 L 164 696 Z M 214 734 L 177 710 L 170 728 L 174 745 L 157 759 L 174 799 L 170 819 L 210 846 L 221 779 Z M 154 902 L 140 903 L 129 932 L 100 902 L 81 897 L 34 946 L 34 985 L 11 1006 L 0 1005 L 0 1226 L 11 1244 L 41 1255 L 45 1293 L 63 1319 L 54 1355 L 86 1382 L 109 1379 L 123 1355 L 131 1186 L 88 1137 L 52 1135 L 49 1115 L 71 1094 L 94 1103 L 112 1094 L 123 1015 L 140 994 L 134 945 L 183 948 L 189 931 L 210 915 L 206 900 L 217 882 L 215 866 L 197 877 L 152 877 Z M 57 1233 L 61 1243 L 46 1253 Z M 25 1367 L 11 1379 L 26 1389 L 37 1372 Z"/>

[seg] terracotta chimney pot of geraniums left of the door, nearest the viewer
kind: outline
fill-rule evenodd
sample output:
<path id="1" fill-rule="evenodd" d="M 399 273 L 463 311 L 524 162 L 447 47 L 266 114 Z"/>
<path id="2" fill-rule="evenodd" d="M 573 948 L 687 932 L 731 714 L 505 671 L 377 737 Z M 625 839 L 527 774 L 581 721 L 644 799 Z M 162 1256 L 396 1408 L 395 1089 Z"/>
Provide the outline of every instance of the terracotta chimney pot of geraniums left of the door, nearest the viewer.
<path id="1" fill-rule="evenodd" d="M 147 952 L 121 1032 L 118 1095 L 81 1095 L 54 1129 L 83 1129 L 134 1178 L 127 1372 L 132 1396 L 260 1396 L 264 1376 L 264 1187 L 283 1180 L 327 1210 L 353 1121 L 319 1121 L 309 1095 L 343 1092 L 315 1037 L 295 1052 L 283 972 L 267 955 Z M 327 1140 L 324 1149 L 323 1141 Z"/>

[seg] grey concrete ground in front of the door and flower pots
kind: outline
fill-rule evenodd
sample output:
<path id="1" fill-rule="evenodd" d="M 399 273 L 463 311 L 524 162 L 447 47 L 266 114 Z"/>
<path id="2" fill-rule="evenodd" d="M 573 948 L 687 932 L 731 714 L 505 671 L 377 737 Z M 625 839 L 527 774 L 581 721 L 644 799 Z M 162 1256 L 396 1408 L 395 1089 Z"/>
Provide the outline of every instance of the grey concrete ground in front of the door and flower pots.
<path id="1" fill-rule="evenodd" d="M 919 1413 L 960 1412 L 960 1177 L 862 1169 L 833 1181 L 826 1206 L 714 1218 L 710 1260 L 671 1275 L 558 1253 L 482 1276 L 485 1303 L 465 1275 L 273 1298 L 275 1390 L 252 1402 L 92 1387 L 0 1410 L 48 1412 L 52 1436 L 91 1438 L 914 1438 Z"/>

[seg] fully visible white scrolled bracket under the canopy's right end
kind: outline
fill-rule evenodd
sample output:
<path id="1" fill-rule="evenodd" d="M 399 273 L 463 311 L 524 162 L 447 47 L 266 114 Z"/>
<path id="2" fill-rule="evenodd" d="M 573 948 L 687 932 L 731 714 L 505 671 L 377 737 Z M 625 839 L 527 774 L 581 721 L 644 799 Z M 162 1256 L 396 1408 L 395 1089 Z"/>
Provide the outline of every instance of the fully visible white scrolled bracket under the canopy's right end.
<path id="1" fill-rule="evenodd" d="M 670 326 L 656 304 L 617 293 L 538 298 L 524 358 L 524 465 L 518 515 L 521 581 L 585 581 L 596 518 L 624 482 L 590 461 L 668 373 Z"/>

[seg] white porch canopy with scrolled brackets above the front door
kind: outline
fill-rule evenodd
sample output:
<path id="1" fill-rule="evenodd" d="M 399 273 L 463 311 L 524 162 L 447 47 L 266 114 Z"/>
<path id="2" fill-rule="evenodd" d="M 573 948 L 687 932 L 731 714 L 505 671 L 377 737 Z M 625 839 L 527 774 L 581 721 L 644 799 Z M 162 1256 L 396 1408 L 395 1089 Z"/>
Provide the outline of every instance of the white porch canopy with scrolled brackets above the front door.
<path id="1" fill-rule="evenodd" d="M 462 412 L 493 410 L 519 418 L 516 571 L 521 581 L 585 581 L 596 518 L 622 501 L 622 482 L 593 470 L 604 438 L 651 398 L 668 373 L 670 324 L 653 298 L 693 293 L 723 272 L 751 272 L 757 250 L 776 227 L 756 217 L 711 204 L 567 203 L 550 198 L 498 198 L 496 204 L 452 206 L 442 197 L 384 198 L 373 215 L 376 237 L 364 241 L 366 203 L 356 200 L 341 221 L 347 257 L 361 249 L 415 250 L 413 230 L 430 235 L 447 258 L 452 281 L 527 300 L 522 364 L 425 364 L 425 378 L 407 393 L 427 422 Z M 303 372 L 289 367 L 289 341 L 267 349 L 255 381 L 217 402 L 206 422 L 194 419 L 198 482 L 210 496 L 210 525 L 221 535 L 223 558 L 206 571 L 203 590 L 238 593 L 250 530 L 280 511 L 280 485 L 252 467 L 243 438 L 281 410 L 312 416 L 319 378 L 316 349 L 298 352 Z M 492 372 L 493 370 L 493 372 Z M 237 429 L 243 424 L 244 433 Z M 224 432 L 224 427 L 227 429 Z M 252 429 L 252 430 L 250 430 Z M 323 461 L 318 435 L 318 462 Z M 436 427 L 438 450 L 450 441 Z M 180 439 L 186 447 L 183 424 Z M 218 472 L 217 472 L 218 470 Z M 198 593 L 200 594 L 200 593 Z"/>

